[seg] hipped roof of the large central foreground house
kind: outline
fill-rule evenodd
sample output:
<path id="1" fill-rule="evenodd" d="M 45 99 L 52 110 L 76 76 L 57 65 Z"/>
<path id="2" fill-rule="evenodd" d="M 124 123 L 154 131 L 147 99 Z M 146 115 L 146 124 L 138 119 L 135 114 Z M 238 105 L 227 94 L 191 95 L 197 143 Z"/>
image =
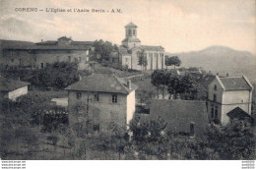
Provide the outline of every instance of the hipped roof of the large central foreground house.
<path id="1" fill-rule="evenodd" d="M 69 85 L 65 89 L 128 94 L 137 89 L 137 85 L 132 84 L 132 88 L 129 89 L 127 83 L 117 76 L 93 74 L 76 84 Z"/>

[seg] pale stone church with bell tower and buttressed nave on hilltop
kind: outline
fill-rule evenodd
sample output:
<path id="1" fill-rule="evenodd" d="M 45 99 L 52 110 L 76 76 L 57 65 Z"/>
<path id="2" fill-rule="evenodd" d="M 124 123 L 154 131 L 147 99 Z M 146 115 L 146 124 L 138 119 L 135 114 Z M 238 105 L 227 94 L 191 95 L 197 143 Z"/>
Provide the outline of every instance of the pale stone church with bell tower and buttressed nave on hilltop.
<path id="1" fill-rule="evenodd" d="M 137 37 L 137 26 L 133 23 L 125 26 L 125 39 L 118 51 L 112 52 L 112 65 L 133 70 L 158 70 L 165 68 L 164 49 L 161 46 L 141 45 Z M 138 52 L 144 51 L 148 65 L 146 68 L 138 65 Z"/>

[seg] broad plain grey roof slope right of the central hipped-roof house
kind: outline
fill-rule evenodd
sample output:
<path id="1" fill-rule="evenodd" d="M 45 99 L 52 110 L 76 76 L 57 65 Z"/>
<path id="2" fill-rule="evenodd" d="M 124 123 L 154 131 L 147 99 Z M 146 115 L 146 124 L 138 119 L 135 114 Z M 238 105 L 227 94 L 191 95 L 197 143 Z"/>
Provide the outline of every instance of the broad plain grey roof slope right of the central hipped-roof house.
<path id="1" fill-rule="evenodd" d="M 198 100 L 153 100 L 149 117 L 161 117 L 175 132 L 189 133 L 190 123 L 195 132 L 204 133 L 208 124 L 206 102 Z"/>

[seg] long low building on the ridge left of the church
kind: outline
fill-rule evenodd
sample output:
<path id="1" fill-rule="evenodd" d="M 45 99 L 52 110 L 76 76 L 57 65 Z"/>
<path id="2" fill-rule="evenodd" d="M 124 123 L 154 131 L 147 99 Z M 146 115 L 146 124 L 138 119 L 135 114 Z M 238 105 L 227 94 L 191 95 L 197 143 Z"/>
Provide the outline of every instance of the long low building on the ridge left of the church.
<path id="1" fill-rule="evenodd" d="M 43 69 L 54 62 L 78 62 L 84 69 L 93 41 L 73 41 L 62 36 L 56 41 L 32 43 L 0 40 L 0 66 Z"/>

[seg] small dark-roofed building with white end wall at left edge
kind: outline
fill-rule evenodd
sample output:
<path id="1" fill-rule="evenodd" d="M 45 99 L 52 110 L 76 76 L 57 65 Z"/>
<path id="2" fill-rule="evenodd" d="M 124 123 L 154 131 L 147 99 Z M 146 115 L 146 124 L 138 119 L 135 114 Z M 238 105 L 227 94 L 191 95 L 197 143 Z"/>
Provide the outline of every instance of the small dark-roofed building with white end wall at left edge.
<path id="1" fill-rule="evenodd" d="M 28 93 L 29 83 L 7 79 L 0 75 L 0 99 L 9 98 L 15 101 L 19 96 Z"/>

